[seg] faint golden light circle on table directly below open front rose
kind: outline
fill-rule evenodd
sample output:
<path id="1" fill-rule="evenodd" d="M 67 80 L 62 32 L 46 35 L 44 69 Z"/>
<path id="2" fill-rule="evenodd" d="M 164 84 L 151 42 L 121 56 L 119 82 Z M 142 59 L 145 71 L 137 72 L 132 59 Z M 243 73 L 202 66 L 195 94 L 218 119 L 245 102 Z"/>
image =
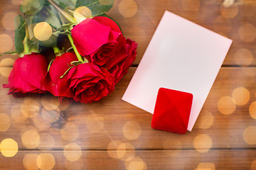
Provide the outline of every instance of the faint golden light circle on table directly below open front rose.
<path id="1" fill-rule="evenodd" d="M 104 127 L 104 118 L 97 114 L 89 115 L 86 118 L 86 127 L 91 132 L 100 132 Z"/>

